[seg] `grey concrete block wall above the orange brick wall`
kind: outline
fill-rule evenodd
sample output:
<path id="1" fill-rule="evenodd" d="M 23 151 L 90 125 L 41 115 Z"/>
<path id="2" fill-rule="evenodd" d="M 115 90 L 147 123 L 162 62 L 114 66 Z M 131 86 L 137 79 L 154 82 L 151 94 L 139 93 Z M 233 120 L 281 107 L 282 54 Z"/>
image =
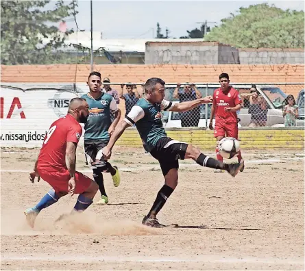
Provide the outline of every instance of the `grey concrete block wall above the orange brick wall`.
<path id="1" fill-rule="evenodd" d="M 236 49 L 219 42 L 147 42 L 145 64 L 304 64 L 304 49 Z"/>

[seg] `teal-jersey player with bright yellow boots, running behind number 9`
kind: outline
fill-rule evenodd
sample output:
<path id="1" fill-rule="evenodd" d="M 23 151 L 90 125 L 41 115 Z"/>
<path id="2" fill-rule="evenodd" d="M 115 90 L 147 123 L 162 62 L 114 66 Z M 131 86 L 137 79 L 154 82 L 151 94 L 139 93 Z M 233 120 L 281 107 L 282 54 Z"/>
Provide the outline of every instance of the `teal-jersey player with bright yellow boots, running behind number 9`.
<path id="1" fill-rule="evenodd" d="M 101 74 L 90 73 L 87 82 L 90 92 L 83 95 L 89 105 L 89 116 L 85 125 L 84 149 L 87 161 L 92 165 L 93 178 L 99 185 L 101 198 L 96 204 L 107 204 L 109 199 L 103 184 L 103 173 L 110 172 L 114 186 L 119 186 L 121 179 L 116 166 L 102 159 L 101 149 L 109 142 L 119 119 L 121 111 L 113 97 L 101 92 Z M 114 120 L 111 122 L 110 111 L 114 112 Z"/>

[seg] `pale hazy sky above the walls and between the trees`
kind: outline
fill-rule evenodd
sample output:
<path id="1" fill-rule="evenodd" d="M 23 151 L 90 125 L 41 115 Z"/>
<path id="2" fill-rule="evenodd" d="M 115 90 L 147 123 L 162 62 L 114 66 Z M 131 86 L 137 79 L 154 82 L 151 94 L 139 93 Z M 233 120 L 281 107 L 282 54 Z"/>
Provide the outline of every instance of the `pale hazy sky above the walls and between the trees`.
<path id="1" fill-rule="evenodd" d="M 168 27 L 170 38 L 187 36 L 186 30 L 220 25 L 222 18 L 239 8 L 269 3 L 284 10 L 304 10 L 304 1 L 98 1 L 93 0 L 93 31 L 103 33 L 103 38 L 153 38 L 156 24 L 162 34 Z M 79 0 L 76 16 L 79 29 L 90 31 L 90 1 Z M 69 28 L 76 29 L 75 22 L 68 20 Z"/>

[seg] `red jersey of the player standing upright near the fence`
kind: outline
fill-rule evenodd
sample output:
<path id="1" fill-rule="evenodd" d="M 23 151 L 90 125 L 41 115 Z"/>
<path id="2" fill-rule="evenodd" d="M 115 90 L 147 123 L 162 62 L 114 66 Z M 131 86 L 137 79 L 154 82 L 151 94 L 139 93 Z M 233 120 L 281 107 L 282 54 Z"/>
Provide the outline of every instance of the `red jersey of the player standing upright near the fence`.
<path id="1" fill-rule="evenodd" d="M 217 88 L 213 94 L 213 106 L 215 108 L 216 122 L 238 122 L 236 112 L 225 112 L 225 107 L 235 107 L 241 104 L 241 96 L 239 92 L 231 88 L 228 92 L 223 93 L 221 88 Z"/>

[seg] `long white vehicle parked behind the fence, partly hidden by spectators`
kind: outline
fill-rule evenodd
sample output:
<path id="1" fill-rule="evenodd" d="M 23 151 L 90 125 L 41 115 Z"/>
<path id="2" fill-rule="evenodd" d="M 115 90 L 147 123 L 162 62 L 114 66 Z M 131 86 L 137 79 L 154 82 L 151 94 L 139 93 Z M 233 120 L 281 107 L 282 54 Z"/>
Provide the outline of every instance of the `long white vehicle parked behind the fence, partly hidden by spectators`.
<path id="1" fill-rule="evenodd" d="M 241 93 L 249 93 L 251 85 L 232 85 L 233 88 L 236 88 L 236 90 L 239 90 Z M 206 96 L 206 92 L 208 92 L 208 95 L 212 95 L 214 91 L 219 88 L 219 85 L 215 84 L 209 84 L 208 89 L 206 90 L 206 87 L 200 87 L 197 86 L 197 88 L 202 92 L 203 96 Z M 284 118 L 282 116 L 282 102 L 284 99 L 286 99 L 287 94 L 285 94 L 280 88 L 276 86 L 267 86 L 267 85 L 256 85 L 256 88 L 258 92 L 260 92 L 260 95 L 263 96 L 267 103 L 267 127 L 284 127 Z M 167 96 L 165 99 L 169 101 L 173 101 L 178 103 L 178 101 L 175 101 L 175 99 L 171 99 L 173 90 L 175 88 L 173 87 L 167 87 Z M 201 114 L 200 114 L 200 120 L 199 120 L 199 127 L 206 127 L 206 105 L 202 105 Z M 211 105 L 207 105 L 208 107 L 208 125 L 210 122 L 210 107 Z M 251 114 L 249 114 L 249 101 L 247 99 L 243 98 L 242 108 L 239 112 L 239 118 L 240 122 L 239 125 L 241 127 L 248 127 L 251 120 Z M 164 127 L 181 127 L 181 121 L 179 118 L 178 113 L 171 113 L 171 112 L 164 112 L 163 117 Z"/>

